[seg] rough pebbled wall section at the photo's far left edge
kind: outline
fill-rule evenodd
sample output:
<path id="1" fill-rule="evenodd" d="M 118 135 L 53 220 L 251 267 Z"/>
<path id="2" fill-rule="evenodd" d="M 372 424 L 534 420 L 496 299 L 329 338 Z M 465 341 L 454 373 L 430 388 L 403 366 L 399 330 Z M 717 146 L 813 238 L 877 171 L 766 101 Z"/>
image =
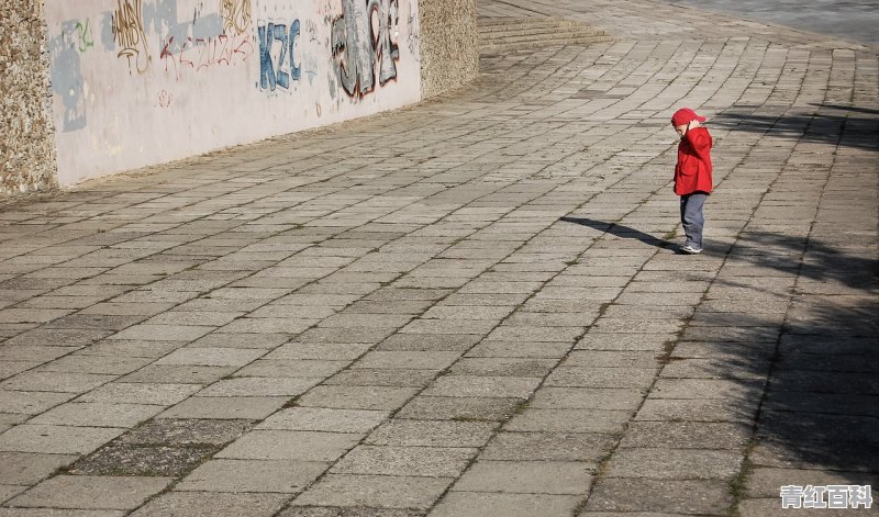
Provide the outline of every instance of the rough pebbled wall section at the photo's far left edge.
<path id="1" fill-rule="evenodd" d="M 48 53 L 40 2 L 0 1 L 0 195 L 55 184 Z"/>

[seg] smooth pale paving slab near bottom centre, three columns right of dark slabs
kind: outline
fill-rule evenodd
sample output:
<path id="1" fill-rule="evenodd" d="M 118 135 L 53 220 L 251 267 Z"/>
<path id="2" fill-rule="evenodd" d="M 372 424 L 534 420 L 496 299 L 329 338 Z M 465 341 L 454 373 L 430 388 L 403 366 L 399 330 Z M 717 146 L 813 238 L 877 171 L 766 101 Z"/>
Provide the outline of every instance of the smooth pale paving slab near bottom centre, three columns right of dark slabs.
<path id="1" fill-rule="evenodd" d="M 589 493 L 592 472 L 575 461 L 478 461 L 452 490 L 579 495 Z"/>

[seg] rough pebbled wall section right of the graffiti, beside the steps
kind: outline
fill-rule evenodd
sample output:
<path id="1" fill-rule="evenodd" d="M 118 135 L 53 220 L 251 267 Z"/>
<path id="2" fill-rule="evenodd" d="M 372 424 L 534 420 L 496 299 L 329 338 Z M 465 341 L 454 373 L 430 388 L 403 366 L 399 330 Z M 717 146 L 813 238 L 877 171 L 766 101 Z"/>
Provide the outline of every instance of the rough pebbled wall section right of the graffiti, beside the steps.
<path id="1" fill-rule="evenodd" d="M 425 98 L 479 74 L 476 0 L 420 0 L 421 81 Z"/>

